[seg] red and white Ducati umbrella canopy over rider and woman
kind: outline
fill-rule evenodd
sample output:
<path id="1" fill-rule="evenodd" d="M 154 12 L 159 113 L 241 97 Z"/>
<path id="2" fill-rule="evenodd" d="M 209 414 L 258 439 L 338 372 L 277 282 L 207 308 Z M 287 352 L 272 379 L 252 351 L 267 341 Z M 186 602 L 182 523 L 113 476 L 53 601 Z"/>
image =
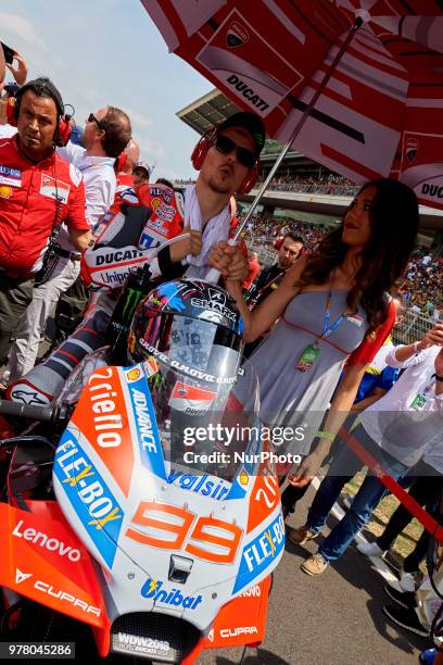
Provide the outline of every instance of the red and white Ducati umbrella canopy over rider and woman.
<path id="1" fill-rule="evenodd" d="M 443 208 L 441 0 L 142 3 L 169 50 L 270 137 L 355 183 L 397 177 Z"/>

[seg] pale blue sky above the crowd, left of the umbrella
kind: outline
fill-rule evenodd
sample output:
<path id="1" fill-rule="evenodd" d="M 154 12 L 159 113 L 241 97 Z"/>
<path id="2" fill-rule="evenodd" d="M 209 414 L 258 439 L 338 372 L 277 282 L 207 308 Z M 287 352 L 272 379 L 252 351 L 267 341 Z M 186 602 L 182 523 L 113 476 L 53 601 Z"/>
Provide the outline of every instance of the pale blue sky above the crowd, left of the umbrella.
<path id="1" fill-rule="evenodd" d="M 0 39 L 49 76 L 79 125 L 111 104 L 126 111 L 153 177 L 188 177 L 197 133 L 175 115 L 213 86 L 168 53 L 139 0 L 14 0 L 2 3 Z M 7 73 L 7 80 L 12 75 Z"/>

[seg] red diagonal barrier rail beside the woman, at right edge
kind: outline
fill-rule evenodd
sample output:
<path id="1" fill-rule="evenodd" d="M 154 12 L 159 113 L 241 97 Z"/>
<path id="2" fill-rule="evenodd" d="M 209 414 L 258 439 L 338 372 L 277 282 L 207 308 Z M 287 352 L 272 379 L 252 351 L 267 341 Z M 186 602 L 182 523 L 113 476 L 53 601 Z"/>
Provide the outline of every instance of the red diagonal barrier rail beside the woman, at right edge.
<path id="1" fill-rule="evenodd" d="M 442 544 L 443 526 L 435 522 L 435 519 L 431 517 L 431 515 L 427 513 L 426 510 L 421 507 L 421 505 L 417 503 L 417 501 L 413 499 L 413 497 L 410 497 L 396 480 L 385 473 L 377 460 L 370 453 L 368 453 L 368 451 L 353 435 L 342 427 L 339 431 L 339 436 L 345 443 L 347 443 L 357 457 L 359 457 L 362 462 L 372 472 L 380 482 L 382 482 L 384 487 L 389 489 L 389 491 L 394 494 L 394 497 L 396 497 L 401 503 L 403 503 L 409 513 L 412 513 L 414 517 L 417 517 L 426 530 L 429 531 L 440 544 Z"/>

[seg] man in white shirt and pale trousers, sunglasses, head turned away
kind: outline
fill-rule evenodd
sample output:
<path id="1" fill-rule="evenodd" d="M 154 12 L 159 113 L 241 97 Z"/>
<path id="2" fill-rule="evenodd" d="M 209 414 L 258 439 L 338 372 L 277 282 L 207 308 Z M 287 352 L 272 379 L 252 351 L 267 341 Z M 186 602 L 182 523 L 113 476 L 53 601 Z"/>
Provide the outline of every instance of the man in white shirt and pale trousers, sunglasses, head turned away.
<path id="1" fill-rule="evenodd" d="M 130 137 L 128 115 L 115 106 L 105 106 L 89 114 L 84 131 L 84 148 L 72 141 L 59 148 L 60 155 L 83 175 L 86 218 L 91 229 L 101 222 L 114 201 L 115 160 Z M 81 254 L 73 247 L 67 229 L 62 225 L 43 266 L 40 284 L 35 287 L 33 301 L 22 319 L 3 380 L 12 382 L 34 367 L 46 322 L 60 296 L 77 279 L 80 259 Z"/>

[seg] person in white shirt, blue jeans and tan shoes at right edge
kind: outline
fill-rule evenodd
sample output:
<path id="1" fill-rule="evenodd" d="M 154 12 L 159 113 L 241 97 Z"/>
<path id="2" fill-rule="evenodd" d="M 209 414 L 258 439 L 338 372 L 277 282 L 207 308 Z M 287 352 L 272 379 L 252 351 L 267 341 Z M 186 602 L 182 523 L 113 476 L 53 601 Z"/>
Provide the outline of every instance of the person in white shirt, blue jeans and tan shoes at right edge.
<path id="1" fill-rule="evenodd" d="M 352 434 L 381 468 L 397 479 L 421 459 L 443 428 L 443 324 L 436 324 L 420 341 L 393 349 L 387 363 L 405 372 L 381 400 L 362 413 Z M 291 529 L 289 540 L 303 544 L 317 537 L 341 489 L 363 465 L 343 442 L 318 488 L 306 524 Z M 318 552 L 302 564 L 302 570 L 319 575 L 337 561 L 384 492 L 384 486 L 368 473 L 345 516 Z"/>

